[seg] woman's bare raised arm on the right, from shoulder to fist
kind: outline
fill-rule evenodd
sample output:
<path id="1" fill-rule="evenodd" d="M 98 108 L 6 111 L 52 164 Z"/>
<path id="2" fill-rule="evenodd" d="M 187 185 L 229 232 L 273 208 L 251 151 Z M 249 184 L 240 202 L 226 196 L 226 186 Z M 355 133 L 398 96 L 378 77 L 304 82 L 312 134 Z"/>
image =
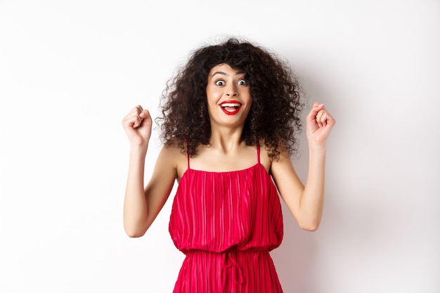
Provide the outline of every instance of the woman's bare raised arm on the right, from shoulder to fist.
<path id="1" fill-rule="evenodd" d="M 313 104 L 306 118 L 309 141 L 309 172 L 303 185 L 292 166 L 287 152 L 272 162 L 271 174 L 281 197 L 299 226 L 304 230 L 316 230 L 321 223 L 324 204 L 325 141 L 335 119 L 324 105 Z"/>

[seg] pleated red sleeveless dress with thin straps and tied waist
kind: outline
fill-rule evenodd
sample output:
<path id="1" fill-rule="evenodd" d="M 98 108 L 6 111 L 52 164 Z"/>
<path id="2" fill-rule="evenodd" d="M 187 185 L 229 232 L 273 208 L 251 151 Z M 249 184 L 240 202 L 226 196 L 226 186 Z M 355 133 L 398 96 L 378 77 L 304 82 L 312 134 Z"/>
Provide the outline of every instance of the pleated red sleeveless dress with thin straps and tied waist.
<path id="1" fill-rule="evenodd" d="M 188 169 L 169 233 L 186 254 L 174 293 L 279 293 L 269 252 L 283 240 L 275 185 L 260 163 L 228 172 Z"/>

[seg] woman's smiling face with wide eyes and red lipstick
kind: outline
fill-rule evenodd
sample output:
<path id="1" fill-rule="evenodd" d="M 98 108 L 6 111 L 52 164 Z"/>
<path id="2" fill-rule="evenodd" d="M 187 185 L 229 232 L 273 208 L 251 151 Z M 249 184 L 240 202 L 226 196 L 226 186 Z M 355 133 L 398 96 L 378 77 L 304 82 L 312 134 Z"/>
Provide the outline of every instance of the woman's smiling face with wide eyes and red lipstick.
<path id="1" fill-rule="evenodd" d="M 252 105 L 246 74 L 227 64 L 216 65 L 206 87 L 211 125 L 242 126 Z"/>

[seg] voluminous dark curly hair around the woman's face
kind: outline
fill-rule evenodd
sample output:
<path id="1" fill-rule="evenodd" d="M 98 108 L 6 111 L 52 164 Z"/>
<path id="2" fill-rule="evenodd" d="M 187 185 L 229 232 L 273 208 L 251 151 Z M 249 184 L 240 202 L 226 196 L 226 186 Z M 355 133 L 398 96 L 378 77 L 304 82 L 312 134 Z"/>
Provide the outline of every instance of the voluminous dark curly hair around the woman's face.
<path id="1" fill-rule="evenodd" d="M 169 79 L 161 99 L 163 116 L 156 119 L 158 125 L 162 122 L 162 142 L 165 145 L 177 142 L 182 152 L 187 151 L 190 156 L 196 154 L 200 143 L 209 145 L 208 74 L 223 63 L 245 72 L 250 85 L 252 105 L 242 141 L 256 145 L 263 140 L 272 159 L 278 159 L 283 149 L 294 154 L 297 134 L 302 129 L 299 115 L 304 108 L 297 77 L 276 54 L 235 38 L 193 51 L 188 63 Z"/>

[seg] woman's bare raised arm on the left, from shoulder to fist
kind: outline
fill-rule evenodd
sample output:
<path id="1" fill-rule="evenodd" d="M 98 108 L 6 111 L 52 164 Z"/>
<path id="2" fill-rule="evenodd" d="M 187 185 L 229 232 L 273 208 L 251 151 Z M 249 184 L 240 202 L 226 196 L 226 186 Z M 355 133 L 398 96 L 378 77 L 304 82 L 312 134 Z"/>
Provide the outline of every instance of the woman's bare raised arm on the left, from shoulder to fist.
<path id="1" fill-rule="evenodd" d="M 176 178 L 172 149 L 162 148 L 153 176 L 144 189 L 145 156 L 148 151 L 152 120 L 147 110 L 137 106 L 122 121 L 131 144 L 129 174 L 124 197 L 124 230 L 140 237 L 153 223 L 167 201 Z"/>

